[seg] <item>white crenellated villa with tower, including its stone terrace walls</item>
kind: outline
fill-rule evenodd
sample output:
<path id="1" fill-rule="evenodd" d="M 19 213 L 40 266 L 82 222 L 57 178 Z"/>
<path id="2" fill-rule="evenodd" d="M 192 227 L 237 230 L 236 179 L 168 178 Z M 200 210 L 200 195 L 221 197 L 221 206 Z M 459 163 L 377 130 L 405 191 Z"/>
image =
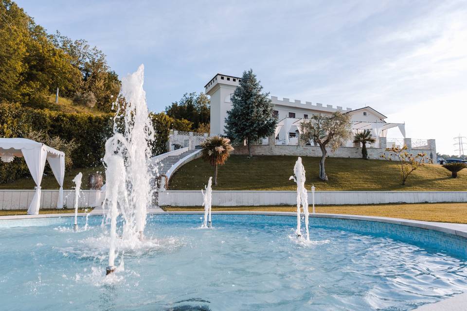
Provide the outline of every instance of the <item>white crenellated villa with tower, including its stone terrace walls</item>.
<path id="1" fill-rule="evenodd" d="M 232 108 L 231 96 L 238 86 L 241 78 L 216 74 L 205 86 L 205 93 L 211 97 L 211 133 L 188 133 L 173 131 L 169 138 L 169 150 L 181 147 L 195 148 L 206 137 L 225 135 L 225 118 L 227 111 Z M 254 153 L 258 155 L 308 155 L 320 156 L 318 147 L 310 144 L 302 146 L 300 142 L 300 124 L 317 114 L 330 114 L 336 111 L 351 115 L 352 132 L 370 130 L 376 142 L 369 147 L 370 158 L 380 158 L 385 148 L 407 145 L 413 152 L 423 152 L 436 159 L 436 144 L 434 139 L 406 138 L 405 123 L 391 123 L 387 117 L 376 109 L 365 106 L 358 109 L 342 108 L 341 106 L 325 105 L 320 103 L 290 101 L 288 98 L 280 100 L 271 96 L 274 104 L 274 114 L 278 118 L 278 125 L 273 136 L 255 142 Z M 403 138 L 388 138 L 388 130 L 396 129 L 397 136 Z M 392 132 L 394 135 L 394 132 Z M 241 146 L 236 146 L 234 153 L 244 153 Z M 338 151 L 329 156 L 360 157 L 360 145 L 352 140 L 346 141 Z"/>

